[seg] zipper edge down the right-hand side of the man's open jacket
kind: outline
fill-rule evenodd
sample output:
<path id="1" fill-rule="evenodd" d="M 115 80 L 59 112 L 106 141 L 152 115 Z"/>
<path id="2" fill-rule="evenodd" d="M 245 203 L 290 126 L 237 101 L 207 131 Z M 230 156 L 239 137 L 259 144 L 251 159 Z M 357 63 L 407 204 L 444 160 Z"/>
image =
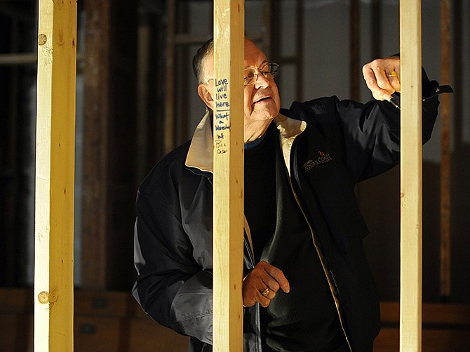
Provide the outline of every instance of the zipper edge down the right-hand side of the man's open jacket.
<path id="1" fill-rule="evenodd" d="M 294 140 L 293 143 L 295 143 L 295 141 L 296 140 Z M 293 143 L 291 145 L 290 150 L 292 150 Z M 290 150 L 289 150 L 289 161 L 290 161 Z M 293 166 L 295 167 L 295 165 L 293 165 Z M 296 168 L 294 168 L 294 169 L 296 170 Z M 291 169 L 291 172 L 292 171 L 293 171 L 293 169 Z M 290 189 L 292 190 L 293 195 L 295 197 L 295 201 L 297 202 L 297 205 L 299 206 L 300 211 L 302 211 L 302 215 L 304 216 L 304 219 L 305 219 L 305 221 L 307 221 L 307 225 L 309 226 L 310 233 L 311 233 L 311 239 L 314 242 L 314 247 L 316 249 L 316 253 L 318 254 L 318 258 L 320 259 L 321 266 L 323 268 L 323 272 L 325 273 L 326 280 L 328 281 L 328 285 L 330 287 L 330 292 L 333 296 L 333 300 L 335 301 L 335 307 L 336 307 L 336 311 L 338 313 L 338 317 L 340 318 L 340 325 L 341 325 L 341 329 L 342 329 L 343 334 L 344 334 L 344 338 L 347 341 L 349 351 L 352 352 L 351 343 L 349 341 L 349 337 L 347 336 L 346 329 L 344 328 L 344 317 L 343 317 L 343 315 L 341 313 L 341 309 L 340 309 L 341 301 L 340 301 L 340 297 L 339 297 L 339 290 L 338 290 L 336 282 L 335 282 L 335 278 L 333 278 L 333 273 L 331 273 L 330 270 L 328 270 L 328 266 L 326 264 L 325 256 L 323 256 L 323 253 L 321 252 L 320 245 L 318 244 L 318 241 L 316 240 L 314 228 L 313 228 L 313 226 L 311 226 L 311 223 L 310 223 L 310 221 L 307 217 L 307 214 L 304 211 L 304 207 L 302 207 L 302 203 L 300 202 L 300 199 L 299 199 L 297 193 L 295 192 L 292 176 L 290 176 L 290 175 L 289 175 L 289 184 L 290 184 Z"/>

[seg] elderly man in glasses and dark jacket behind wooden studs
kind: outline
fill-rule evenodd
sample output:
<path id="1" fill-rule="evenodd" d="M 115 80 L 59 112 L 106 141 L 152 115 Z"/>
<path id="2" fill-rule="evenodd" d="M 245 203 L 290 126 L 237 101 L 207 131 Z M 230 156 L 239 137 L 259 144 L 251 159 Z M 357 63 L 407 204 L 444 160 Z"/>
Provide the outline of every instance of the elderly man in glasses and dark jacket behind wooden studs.
<path id="1" fill-rule="evenodd" d="M 154 320 L 191 337 L 190 351 L 210 351 L 212 41 L 193 64 L 208 112 L 137 193 L 133 295 Z M 376 99 L 367 104 L 330 97 L 284 110 L 278 65 L 246 39 L 244 351 L 372 351 L 379 300 L 354 187 L 398 163 L 400 114 L 384 100 L 400 91 L 399 64 L 363 67 Z M 428 141 L 438 84 L 423 77 Z"/>

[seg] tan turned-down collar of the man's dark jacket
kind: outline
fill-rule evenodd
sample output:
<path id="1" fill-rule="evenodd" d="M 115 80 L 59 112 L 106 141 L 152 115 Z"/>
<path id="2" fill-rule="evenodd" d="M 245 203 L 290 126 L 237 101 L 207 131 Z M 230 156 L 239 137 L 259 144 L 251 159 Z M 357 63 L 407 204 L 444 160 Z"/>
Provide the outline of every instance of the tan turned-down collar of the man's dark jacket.
<path id="1" fill-rule="evenodd" d="M 201 119 L 189 146 L 185 165 L 195 167 L 201 171 L 213 172 L 213 132 L 212 132 L 212 111 L 208 110 Z M 307 127 L 307 123 L 297 119 L 291 119 L 279 114 L 273 120 L 279 131 L 281 139 L 292 139 L 302 133 Z"/>

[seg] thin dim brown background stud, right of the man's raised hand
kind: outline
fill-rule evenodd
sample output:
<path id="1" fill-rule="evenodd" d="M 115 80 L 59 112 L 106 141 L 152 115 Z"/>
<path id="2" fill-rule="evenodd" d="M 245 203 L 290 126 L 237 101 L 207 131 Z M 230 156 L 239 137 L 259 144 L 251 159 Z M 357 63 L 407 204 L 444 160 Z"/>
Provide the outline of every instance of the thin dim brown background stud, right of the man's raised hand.
<path id="1" fill-rule="evenodd" d="M 441 1 L 441 83 L 450 82 L 450 0 Z M 441 100 L 441 299 L 450 296 L 450 95 Z"/>

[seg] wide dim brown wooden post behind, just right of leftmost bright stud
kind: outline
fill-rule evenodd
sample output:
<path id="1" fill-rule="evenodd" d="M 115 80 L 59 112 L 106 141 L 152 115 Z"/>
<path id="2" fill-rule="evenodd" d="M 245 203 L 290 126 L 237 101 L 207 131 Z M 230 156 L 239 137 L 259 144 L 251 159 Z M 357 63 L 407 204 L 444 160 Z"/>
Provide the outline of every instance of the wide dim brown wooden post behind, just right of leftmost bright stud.
<path id="1" fill-rule="evenodd" d="M 105 289 L 109 233 L 111 0 L 85 1 L 81 288 Z"/>

